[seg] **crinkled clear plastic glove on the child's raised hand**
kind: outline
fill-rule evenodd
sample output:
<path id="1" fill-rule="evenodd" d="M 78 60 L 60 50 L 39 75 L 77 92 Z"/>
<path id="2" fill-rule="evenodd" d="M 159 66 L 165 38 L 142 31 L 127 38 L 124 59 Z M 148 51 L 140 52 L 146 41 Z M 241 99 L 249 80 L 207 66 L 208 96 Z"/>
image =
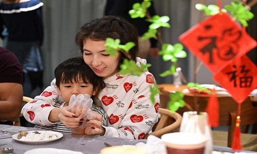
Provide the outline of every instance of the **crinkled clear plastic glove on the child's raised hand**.
<path id="1" fill-rule="evenodd" d="M 71 128 L 72 130 L 81 130 L 87 126 L 86 120 L 96 119 L 95 111 L 92 111 L 93 100 L 88 94 L 72 94 L 69 99 L 69 110 L 75 113 L 78 118 L 84 118 L 83 123 L 77 128 Z"/>

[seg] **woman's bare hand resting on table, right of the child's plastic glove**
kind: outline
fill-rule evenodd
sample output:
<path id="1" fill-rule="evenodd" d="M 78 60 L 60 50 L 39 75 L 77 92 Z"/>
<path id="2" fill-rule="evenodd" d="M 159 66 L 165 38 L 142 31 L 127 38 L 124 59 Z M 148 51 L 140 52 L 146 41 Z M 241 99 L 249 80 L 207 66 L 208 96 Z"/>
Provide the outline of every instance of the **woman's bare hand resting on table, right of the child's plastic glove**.
<path id="1" fill-rule="evenodd" d="M 87 127 L 85 128 L 85 134 L 88 136 L 91 135 L 100 135 L 103 136 L 105 134 L 105 128 L 102 127 L 103 117 L 100 114 L 97 114 L 96 119 L 87 120 Z"/>

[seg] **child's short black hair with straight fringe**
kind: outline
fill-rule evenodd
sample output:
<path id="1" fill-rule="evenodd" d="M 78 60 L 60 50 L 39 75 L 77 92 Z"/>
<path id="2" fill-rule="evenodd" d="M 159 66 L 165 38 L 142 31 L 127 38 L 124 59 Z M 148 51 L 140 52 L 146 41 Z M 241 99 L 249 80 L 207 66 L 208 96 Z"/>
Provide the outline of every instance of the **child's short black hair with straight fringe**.
<path id="1" fill-rule="evenodd" d="M 86 84 L 92 84 L 94 89 L 98 88 L 96 95 L 91 97 L 93 101 L 105 87 L 103 79 L 93 72 L 82 56 L 72 57 L 59 64 L 54 70 L 54 76 L 58 87 L 60 87 L 60 83 L 78 83 L 80 79 Z"/>

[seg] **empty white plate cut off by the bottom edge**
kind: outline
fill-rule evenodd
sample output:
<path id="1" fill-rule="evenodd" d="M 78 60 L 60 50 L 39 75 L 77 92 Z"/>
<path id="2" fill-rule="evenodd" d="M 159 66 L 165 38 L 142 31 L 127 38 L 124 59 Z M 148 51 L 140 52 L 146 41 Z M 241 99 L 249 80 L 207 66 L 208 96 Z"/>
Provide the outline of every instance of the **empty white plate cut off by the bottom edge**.
<path id="1" fill-rule="evenodd" d="M 26 151 L 24 154 L 57 154 L 57 153 L 62 153 L 62 154 L 83 154 L 82 152 L 79 151 L 71 151 L 71 150 L 65 150 L 65 149 L 56 149 L 56 148 L 36 148 L 32 150 Z"/>

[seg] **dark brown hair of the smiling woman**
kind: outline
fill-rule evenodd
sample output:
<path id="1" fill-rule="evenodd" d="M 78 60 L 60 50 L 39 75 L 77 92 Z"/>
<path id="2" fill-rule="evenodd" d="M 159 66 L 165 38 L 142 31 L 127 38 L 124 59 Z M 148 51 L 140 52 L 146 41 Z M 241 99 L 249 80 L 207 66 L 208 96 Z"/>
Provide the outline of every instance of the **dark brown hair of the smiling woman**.
<path id="1" fill-rule="evenodd" d="M 87 39 L 92 41 L 105 41 L 107 37 L 119 39 L 122 45 L 128 42 L 134 42 L 136 46 L 130 50 L 130 55 L 132 59 L 136 61 L 138 54 L 138 31 L 134 25 L 122 17 L 107 15 L 82 25 L 76 35 L 76 43 L 80 47 L 80 51 L 83 55 L 83 43 Z M 119 63 L 122 63 L 125 57 L 126 56 L 121 53 Z"/>

